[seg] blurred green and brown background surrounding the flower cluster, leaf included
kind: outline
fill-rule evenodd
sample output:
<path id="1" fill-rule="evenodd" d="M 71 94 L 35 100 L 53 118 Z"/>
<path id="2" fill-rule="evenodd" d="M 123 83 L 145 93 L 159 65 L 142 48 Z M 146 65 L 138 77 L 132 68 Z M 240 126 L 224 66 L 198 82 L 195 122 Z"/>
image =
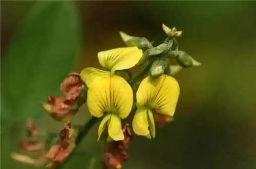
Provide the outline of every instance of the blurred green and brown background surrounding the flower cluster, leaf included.
<path id="1" fill-rule="evenodd" d="M 32 168 L 10 158 L 27 118 L 61 128 L 40 101 L 59 94 L 68 72 L 99 67 L 98 51 L 124 46 L 118 31 L 159 44 L 162 23 L 183 31 L 180 49 L 202 66 L 176 76 L 175 121 L 156 139 L 135 136 L 123 168 L 256 168 L 256 2 L 1 1 L 2 168 Z M 89 117 L 84 106 L 74 121 Z M 96 129 L 70 166 L 88 168 L 88 156 L 100 156 Z"/>

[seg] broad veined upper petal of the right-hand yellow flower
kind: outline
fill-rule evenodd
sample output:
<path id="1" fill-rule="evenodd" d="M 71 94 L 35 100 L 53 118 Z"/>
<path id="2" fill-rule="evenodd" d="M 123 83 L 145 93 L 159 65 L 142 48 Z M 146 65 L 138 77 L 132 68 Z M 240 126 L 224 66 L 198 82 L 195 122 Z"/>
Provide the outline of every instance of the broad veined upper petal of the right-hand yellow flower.
<path id="1" fill-rule="evenodd" d="M 173 116 L 180 94 L 177 80 L 172 76 L 161 75 L 142 80 L 137 91 L 137 106 L 148 106 L 163 115 Z"/>

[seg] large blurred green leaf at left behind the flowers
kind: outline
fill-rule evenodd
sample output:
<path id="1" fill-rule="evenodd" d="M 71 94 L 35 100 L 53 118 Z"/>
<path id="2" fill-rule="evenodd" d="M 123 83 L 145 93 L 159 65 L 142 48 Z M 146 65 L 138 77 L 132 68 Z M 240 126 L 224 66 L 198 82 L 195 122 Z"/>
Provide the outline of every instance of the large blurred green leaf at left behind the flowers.
<path id="1" fill-rule="evenodd" d="M 40 102 L 59 94 L 74 71 L 80 49 L 79 22 L 72 2 L 37 2 L 1 59 L 1 166 L 29 168 L 10 158 L 25 132 L 25 120 L 46 115 Z M 23 167 L 24 166 L 24 167 Z"/>

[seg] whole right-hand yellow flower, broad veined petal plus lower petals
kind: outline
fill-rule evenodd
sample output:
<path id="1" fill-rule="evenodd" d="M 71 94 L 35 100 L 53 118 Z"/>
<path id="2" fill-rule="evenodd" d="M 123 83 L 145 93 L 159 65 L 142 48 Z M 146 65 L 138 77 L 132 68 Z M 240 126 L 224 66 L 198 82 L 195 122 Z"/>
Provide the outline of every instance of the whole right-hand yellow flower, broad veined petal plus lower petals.
<path id="1" fill-rule="evenodd" d="M 133 119 L 133 130 L 137 135 L 155 138 L 154 113 L 173 117 L 180 94 L 175 78 L 161 75 L 146 77 L 137 91 L 137 110 Z M 156 112 L 155 112 L 156 111 Z"/>

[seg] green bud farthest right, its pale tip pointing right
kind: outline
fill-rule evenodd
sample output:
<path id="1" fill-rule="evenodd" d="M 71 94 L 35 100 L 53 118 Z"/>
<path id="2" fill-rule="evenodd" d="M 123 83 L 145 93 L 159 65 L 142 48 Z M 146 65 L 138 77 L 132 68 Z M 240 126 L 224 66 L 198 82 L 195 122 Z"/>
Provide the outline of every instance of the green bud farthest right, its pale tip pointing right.
<path id="1" fill-rule="evenodd" d="M 188 68 L 192 66 L 201 66 L 201 63 L 190 57 L 185 51 L 177 50 L 170 51 L 169 54 L 172 54 L 176 57 L 177 62 L 180 66 Z"/>

